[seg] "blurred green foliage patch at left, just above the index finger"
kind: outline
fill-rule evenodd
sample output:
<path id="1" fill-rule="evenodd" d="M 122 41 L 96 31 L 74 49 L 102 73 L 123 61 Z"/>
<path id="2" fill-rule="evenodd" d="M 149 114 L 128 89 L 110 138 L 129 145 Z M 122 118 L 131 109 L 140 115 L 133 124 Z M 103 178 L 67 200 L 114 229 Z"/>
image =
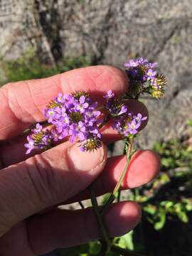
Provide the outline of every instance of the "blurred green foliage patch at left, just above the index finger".
<path id="1" fill-rule="evenodd" d="M 3 85 L 6 82 L 16 82 L 36 78 L 46 78 L 50 75 L 62 73 L 74 68 L 80 68 L 90 65 L 90 58 L 66 57 L 60 61 L 58 66 L 51 66 L 41 63 L 35 52 L 31 49 L 26 50 L 21 58 L 16 60 L 3 61 L 1 69 L 3 70 L 6 80 L 0 81 Z"/>

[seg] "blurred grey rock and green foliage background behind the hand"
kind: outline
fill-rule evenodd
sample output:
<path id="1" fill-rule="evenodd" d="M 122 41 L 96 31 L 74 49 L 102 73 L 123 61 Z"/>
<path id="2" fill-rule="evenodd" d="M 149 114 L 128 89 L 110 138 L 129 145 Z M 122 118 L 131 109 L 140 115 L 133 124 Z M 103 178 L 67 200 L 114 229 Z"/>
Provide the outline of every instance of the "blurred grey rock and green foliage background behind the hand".
<path id="1" fill-rule="evenodd" d="M 140 56 L 159 63 L 166 95 L 142 98 L 150 118 L 137 146 L 161 155 L 161 174 L 123 193 L 142 204 L 143 218 L 114 243 L 145 255 L 192 255 L 192 0 L 0 0 L 0 34 L 1 85 L 87 65 L 123 68 Z M 119 142 L 109 149 L 123 151 Z M 90 242 L 50 255 L 99 250 Z"/>

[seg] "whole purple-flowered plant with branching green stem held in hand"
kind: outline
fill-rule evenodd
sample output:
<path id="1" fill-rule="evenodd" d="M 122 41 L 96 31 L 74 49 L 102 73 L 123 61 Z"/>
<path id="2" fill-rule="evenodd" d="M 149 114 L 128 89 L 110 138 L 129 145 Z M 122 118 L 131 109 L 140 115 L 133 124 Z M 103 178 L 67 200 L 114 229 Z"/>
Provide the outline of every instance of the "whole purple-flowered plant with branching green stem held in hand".
<path id="1" fill-rule="evenodd" d="M 99 210 L 94 191 L 90 186 L 92 206 L 97 215 L 102 238 L 110 250 L 111 241 L 108 237 L 102 215 L 114 201 L 116 193 L 122 184 L 127 172 L 127 166 L 132 156 L 134 139 L 139 133 L 139 128 L 146 122 L 146 116 L 141 113 L 134 114 L 127 107 L 128 100 L 138 100 L 139 96 L 148 93 L 152 97 L 159 99 L 164 95 L 166 78 L 159 74 L 155 68 L 156 63 L 149 63 L 144 58 L 130 60 L 124 63 L 125 72 L 129 78 L 130 90 L 123 97 L 115 97 L 114 92 L 109 90 L 103 95 L 105 104 L 99 106 L 97 102 L 92 102 L 88 92 L 77 91 L 71 95 L 59 93 L 46 107 L 43 114 L 46 117 L 46 124 L 36 124 L 28 135 L 28 143 L 25 144 L 29 154 L 33 149 L 50 149 L 55 142 L 69 139 L 71 143 L 78 142 L 81 151 L 94 151 L 102 146 L 102 133 L 100 129 L 109 121 L 112 121 L 112 128 L 125 140 L 125 150 L 127 161 L 124 170 L 114 188 L 111 196 L 104 206 Z"/>

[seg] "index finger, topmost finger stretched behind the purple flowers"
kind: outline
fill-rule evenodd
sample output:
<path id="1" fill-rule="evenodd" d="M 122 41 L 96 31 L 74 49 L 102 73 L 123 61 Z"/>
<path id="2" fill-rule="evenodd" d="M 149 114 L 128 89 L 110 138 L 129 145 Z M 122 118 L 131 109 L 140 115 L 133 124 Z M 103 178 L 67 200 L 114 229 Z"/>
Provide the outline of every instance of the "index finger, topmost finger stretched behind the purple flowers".
<path id="1" fill-rule="evenodd" d="M 128 79 L 122 70 L 107 65 L 70 70 L 50 78 L 27 80 L 4 85 L 0 89 L 0 140 L 10 139 L 31 123 L 41 122 L 43 108 L 58 92 L 85 90 L 101 102 L 107 90 L 122 95 Z"/>

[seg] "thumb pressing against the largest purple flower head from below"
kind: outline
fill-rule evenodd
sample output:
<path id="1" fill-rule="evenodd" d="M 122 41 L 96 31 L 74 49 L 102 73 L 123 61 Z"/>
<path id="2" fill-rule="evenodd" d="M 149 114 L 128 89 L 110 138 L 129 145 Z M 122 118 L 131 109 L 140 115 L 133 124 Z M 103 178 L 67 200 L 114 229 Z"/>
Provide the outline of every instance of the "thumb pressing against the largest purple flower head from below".
<path id="1" fill-rule="evenodd" d="M 0 236 L 40 210 L 85 189 L 105 166 L 104 144 L 82 152 L 65 142 L 0 171 Z"/>

